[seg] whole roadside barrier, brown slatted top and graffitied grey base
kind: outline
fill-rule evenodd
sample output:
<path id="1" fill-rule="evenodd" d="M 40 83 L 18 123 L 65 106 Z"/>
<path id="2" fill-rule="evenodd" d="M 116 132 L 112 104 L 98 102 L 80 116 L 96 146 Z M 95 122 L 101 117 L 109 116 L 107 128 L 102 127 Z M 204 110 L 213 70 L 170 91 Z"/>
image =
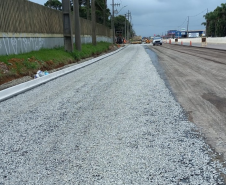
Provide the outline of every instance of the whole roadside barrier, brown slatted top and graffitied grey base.
<path id="1" fill-rule="evenodd" d="M 82 43 L 92 42 L 92 22 L 80 18 Z M 72 16 L 72 30 L 75 23 Z M 112 42 L 111 29 L 96 24 L 97 41 Z M 28 0 L 0 0 L 0 55 L 63 46 L 61 11 Z"/>

